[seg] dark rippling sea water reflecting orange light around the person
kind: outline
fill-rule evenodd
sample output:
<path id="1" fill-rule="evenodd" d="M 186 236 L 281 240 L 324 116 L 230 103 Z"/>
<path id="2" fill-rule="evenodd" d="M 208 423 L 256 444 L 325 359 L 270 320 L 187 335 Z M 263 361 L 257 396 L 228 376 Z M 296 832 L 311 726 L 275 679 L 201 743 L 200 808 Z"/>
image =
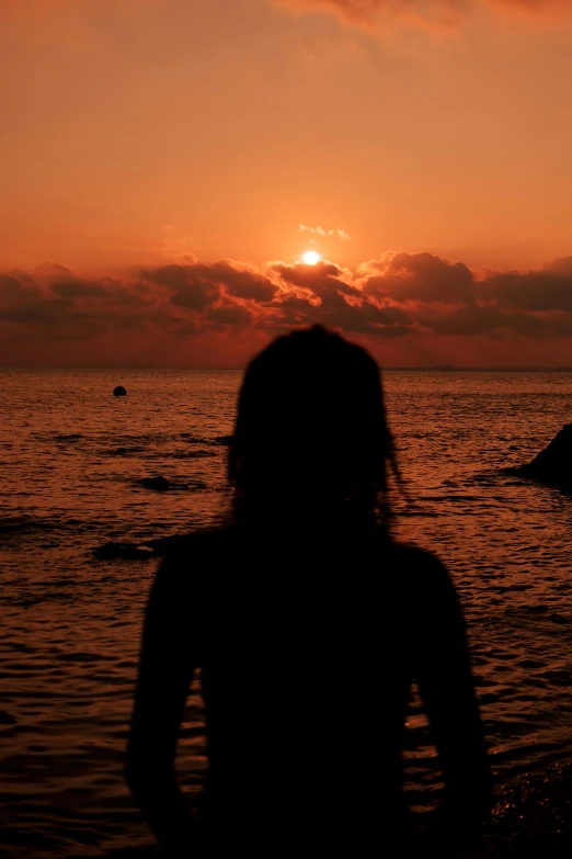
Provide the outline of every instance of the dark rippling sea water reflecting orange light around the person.
<path id="1" fill-rule="evenodd" d="M 239 384 L 231 372 L 0 372 L 2 856 L 151 849 L 122 756 L 158 562 L 94 550 L 224 516 Z M 391 371 L 385 389 L 408 493 L 396 493 L 397 535 L 436 552 L 460 595 L 496 781 L 489 841 L 513 855 L 523 833 L 570 818 L 572 496 L 504 468 L 572 420 L 572 374 Z M 158 475 L 172 488 L 141 484 Z M 441 776 L 416 699 L 408 728 L 422 816 Z M 205 765 L 195 688 L 178 764 L 188 790 Z"/>

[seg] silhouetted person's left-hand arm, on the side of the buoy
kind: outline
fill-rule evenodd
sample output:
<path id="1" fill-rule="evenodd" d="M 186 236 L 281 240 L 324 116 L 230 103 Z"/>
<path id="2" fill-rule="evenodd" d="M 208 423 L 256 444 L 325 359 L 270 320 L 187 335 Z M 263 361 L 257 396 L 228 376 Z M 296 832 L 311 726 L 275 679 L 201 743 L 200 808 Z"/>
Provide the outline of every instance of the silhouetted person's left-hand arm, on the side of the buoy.
<path id="1" fill-rule="evenodd" d="M 195 668 L 181 574 L 164 562 L 145 618 L 125 777 L 170 857 L 191 857 L 193 821 L 174 775 L 176 739 Z"/>

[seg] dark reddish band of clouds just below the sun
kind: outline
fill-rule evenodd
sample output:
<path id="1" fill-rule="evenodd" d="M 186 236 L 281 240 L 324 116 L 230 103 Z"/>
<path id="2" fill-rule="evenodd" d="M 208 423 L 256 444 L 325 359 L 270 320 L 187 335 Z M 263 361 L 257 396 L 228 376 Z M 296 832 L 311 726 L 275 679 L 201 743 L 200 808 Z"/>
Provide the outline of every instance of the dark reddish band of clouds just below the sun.
<path id="1" fill-rule="evenodd" d="M 426 354 L 432 341 L 460 338 L 470 352 L 474 340 L 481 360 L 479 353 L 472 360 L 481 365 L 488 363 L 483 338 L 517 343 L 523 354 L 564 338 L 570 350 L 572 257 L 535 271 L 478 274 L 462 262 L 404 251 L 356 271 L 334 262 L 255 267 L 221 260 L 161 265 L 128 278 L 79 276 L 61 265 L 0 274 L 3 365 L 13 364 L 23 347 L 39 362 L 57 347 L 69 363 L 85 354 L 90 363 L 98 355 L 105 363 L 105 343 L 122 343 L 122 355 L 130 354 L 129 344 L 135 354 L 145 343 L 161 365 L 173 343 L 183 353 L 188 344 L 220 343 L 230 335 L 263 344 L 317 323 L 373 344 L 421 343 Z M 186 354 L 197 360 L 196 351 Z"/>

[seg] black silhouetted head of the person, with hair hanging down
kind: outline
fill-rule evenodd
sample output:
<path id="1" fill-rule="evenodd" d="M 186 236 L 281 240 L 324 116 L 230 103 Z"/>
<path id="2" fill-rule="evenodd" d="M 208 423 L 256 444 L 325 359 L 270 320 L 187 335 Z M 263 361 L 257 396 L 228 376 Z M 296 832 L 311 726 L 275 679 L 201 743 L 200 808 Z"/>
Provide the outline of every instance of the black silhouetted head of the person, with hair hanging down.
<path id="1" fill-rule="evenodd" d="M 239 520 L 341 513 L 369 527 L 378 508 L 387 520 L 388 463 L 379 366 L 365 349 L 314 326 L 251 361 L 229 453 Z"/>

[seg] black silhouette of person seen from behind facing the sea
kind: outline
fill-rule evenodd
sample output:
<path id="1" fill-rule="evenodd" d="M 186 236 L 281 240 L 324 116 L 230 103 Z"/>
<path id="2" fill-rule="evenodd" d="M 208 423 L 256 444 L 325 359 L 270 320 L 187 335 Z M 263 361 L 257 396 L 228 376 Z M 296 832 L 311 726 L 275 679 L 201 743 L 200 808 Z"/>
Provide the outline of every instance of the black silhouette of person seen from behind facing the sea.
<path id="1" fill-rule="evenodd" d="M 478 834 L 489 769 L 464 623 L 437 558 L 390 538 L 388 465 L 365 350 L 314 327 L 251 362 L 232 521 L 181 540 L 147 609 L 127 779 L 168 855 L 408 855 L 413 680 L 445 776 L 441 855 Z M 198 669 L 209 769 L 192 815 L 173 766 Z"/>

